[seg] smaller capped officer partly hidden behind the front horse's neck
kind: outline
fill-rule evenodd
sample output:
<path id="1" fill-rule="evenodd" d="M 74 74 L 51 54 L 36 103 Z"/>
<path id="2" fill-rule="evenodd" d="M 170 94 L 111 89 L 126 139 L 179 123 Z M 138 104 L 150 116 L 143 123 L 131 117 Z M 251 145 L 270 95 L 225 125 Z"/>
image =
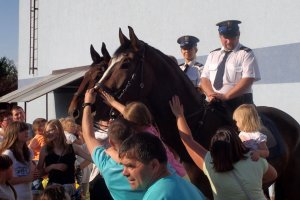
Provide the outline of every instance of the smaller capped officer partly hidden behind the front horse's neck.
<path id="1" fill-rule="evenodd" d="M 203 65 L 196 61 L 198 42 L 198 38 L 190 35 L 182 36 L 177 40 L 177 43 L 180 44 L 181 53 L 184 58 L 184 63 L 180 64 L 179 67 L 189 77 L 195 88 L 200 89 Z"/>

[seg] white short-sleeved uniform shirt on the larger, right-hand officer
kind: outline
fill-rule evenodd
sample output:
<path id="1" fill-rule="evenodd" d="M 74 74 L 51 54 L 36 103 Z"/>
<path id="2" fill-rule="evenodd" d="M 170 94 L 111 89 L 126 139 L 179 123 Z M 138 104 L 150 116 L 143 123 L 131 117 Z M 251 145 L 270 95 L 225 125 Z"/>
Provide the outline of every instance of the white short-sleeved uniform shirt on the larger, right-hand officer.
<path id="1" fill-rule="evenodd" d="M 240 43 L 237 44 L 227 58 L 223 76 L 223 87 L 220 90 L 216 90 L 213 83 L 218 66 L 225 55 L 224 47 L 220 50 L 212 51 L 208 55 L 201 77 L 210 80 L 214 91 L 223 94 L 227 93 L 242 78 L 254 78 L 255 81 L 260 80 L 260 72 L 252 50 L 241 50 L 241 47 L 242 45 Z M 245 90 L 245 94 L 246 93 L 252 93 L 251 86 Z"/>

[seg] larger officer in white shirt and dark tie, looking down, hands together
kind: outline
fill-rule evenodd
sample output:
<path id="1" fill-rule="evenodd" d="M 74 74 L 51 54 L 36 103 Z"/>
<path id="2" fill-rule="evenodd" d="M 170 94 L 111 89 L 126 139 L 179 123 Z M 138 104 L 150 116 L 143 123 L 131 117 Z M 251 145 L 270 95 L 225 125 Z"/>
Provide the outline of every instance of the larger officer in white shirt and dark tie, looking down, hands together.
<path id="1" fill-rule="evenodd" d="M 239 43 L 240 23 L 227 20 L 217 24 L 222 47 L 210 52 L 201 75 L 208 101 L 220 99 L 229 112 L 243 103 L 253 104 L 252 84 L 260 80 L 252 50 Z"/>

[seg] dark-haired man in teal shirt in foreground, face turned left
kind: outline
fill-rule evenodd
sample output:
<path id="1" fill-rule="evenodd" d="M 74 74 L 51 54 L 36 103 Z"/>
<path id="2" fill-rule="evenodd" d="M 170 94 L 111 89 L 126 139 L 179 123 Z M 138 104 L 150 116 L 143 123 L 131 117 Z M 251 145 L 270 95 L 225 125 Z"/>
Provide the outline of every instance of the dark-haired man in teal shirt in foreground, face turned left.
<path id="1" fill-rule="evenodd" d="M 143 200 L 205 199 L 192 183 L 171 174 L 166 150 L 156 136 L 141 132 L 131 135 L 121 145 L 119 158 L 133 190 L 146 190 Z"/>

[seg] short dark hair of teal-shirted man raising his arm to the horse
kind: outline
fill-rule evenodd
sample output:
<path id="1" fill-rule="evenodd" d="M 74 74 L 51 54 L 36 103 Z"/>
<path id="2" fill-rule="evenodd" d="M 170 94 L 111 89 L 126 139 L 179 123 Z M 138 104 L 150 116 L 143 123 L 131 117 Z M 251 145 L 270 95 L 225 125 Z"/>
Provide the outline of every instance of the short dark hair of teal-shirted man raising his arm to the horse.
<path id="1" fill-rule="evenodd" d="M 123 118 L 115 119 L 108 127 L 109 138 L 120 144 L 132 134 L 130 123 Z"/>

